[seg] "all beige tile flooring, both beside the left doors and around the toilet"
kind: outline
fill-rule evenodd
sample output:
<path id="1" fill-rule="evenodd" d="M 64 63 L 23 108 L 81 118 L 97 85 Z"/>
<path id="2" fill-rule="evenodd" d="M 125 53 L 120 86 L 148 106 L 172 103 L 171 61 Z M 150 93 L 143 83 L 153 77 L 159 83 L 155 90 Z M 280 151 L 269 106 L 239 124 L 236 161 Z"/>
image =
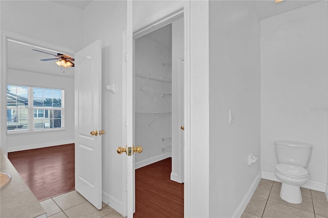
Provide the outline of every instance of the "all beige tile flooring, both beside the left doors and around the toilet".
<path id="1" fill-rule="evenodd" d="M 262 179 L 241 217 L 328 217 L 328 201 L 324 192 L 301 188 L 303 202 L 291 204 L 280 198 L 280 187 L 281 183 Z M 103 204 L 103 209 L 97 210 L 75 190 L 47 199 L 40 204 L 51 218 L 122 217 L 106 204 Z"/>

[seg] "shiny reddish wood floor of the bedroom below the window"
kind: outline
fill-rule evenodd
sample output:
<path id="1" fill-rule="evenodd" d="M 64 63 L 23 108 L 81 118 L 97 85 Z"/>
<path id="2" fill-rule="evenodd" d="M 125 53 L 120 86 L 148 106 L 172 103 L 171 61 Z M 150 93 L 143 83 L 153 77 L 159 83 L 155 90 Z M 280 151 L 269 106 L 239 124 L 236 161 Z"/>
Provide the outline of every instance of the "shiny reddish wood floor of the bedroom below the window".
<path id="1" fill-rule="evenodd" d="M 74 144 L 8 152 L 38 201 L 74 190 Z"/>

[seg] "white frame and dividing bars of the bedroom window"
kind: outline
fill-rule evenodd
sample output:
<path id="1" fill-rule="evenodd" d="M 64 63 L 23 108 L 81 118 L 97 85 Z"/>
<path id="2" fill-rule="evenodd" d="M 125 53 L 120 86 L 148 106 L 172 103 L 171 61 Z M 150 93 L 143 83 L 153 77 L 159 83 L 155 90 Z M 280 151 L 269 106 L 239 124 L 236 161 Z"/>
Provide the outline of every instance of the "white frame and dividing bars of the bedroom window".
<path id="1" fill-rule="evenodd" d="M 13 129 L 13 130 L 8 130 L 8 115 L 6 117 L 6 123 L 7 123 L 7 135 L 15 135 L 15 134 L 33 134 L 33 133 L 44 133 L 44 132 L 53 132 L 53 131 L 58 131 L 58 130 L 65 130 L 65 89 L 63 88 L 50 88 L 50 87 L 44 87 L 44 86 L 36 86 L 36 85 L 21 85 L 21 84 L 7 84 L 12 85 L 12 86 L 23 86 L 28 88 L 28 106 L 27 107 L 17 107 L 17 106 L 7 106 L 7 111 L 8 110 L 28 110 L 28 128 L 27 129 Z M 34 106 L 33 105 L 33 88 L 39 88 L 39 89 L 52 89 L 52 90 L 60 90 L 61 91 L 61 106 L 60 107 L 45 107 L 45 106 Z M 8 103 L 8 102 L 7 102 Z M 60 127 L 56 128 L 35 128 L 34 126 L 34 110 L 38 111 L 39 110 L 49 110 L 48 111 L 48 118 L 45 119 L 50 119 L 50 111 L 53 110 L 60 110 L 61 111 L 61 125 Z M 44 116 L 46 112 L 44 111 Z M 42 118 L 40 118 L 42 119 Z M 52 118 L 54 120 L 54 118 Z"/>

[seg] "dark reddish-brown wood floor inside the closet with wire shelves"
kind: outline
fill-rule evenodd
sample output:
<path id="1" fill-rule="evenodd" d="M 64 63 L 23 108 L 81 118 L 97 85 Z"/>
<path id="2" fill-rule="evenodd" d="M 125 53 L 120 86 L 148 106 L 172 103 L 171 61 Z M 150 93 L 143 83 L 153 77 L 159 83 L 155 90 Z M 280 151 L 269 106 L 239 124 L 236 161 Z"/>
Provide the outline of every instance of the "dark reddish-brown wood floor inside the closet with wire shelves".
<path id="1" fill-rule="evenodd" d="M 183 184 L 170 180 L 172 159 L 135 170 L 134 217 L 183 217 Z"/>

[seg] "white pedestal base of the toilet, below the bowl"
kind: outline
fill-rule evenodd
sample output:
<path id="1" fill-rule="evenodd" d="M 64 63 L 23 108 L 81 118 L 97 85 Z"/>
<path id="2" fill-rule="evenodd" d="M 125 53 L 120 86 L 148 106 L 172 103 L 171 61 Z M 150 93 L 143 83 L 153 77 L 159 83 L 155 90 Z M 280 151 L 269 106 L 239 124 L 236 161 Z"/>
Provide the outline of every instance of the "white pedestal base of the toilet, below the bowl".
<path id="1" fill-rule="evenodd" d="M 300 204 L 302 203 L 301 189 L 299 186 L 282 183 L 280 189 L 280 198 L 292 204 Z"/>

